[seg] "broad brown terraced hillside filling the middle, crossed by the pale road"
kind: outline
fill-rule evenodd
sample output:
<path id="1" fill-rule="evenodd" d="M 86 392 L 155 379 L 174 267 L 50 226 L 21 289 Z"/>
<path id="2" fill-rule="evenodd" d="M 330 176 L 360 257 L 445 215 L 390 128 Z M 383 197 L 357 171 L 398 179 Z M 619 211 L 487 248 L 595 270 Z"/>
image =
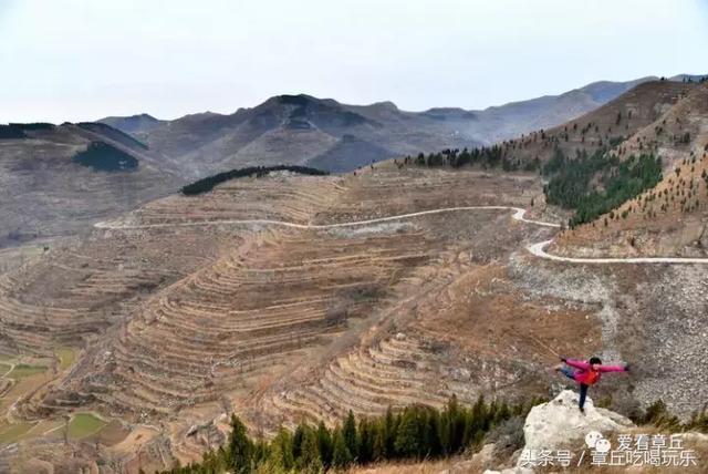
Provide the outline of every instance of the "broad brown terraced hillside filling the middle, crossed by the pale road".
<path id="1" fill-rule="evenodd" d="M 533 200 L 528 217 L 551 220 L 542 193 L 534 173 L 386 162 L 233 179 L 103 221 L 2 277 L 3 360 L 46 369 L 8 375 L 3 457 L 147 471 L 199 458 L 231 411 L 269 434 L 348 410 L 546 394 L 562 383 L 549 348 L 634 363 L 595 398 L 629 410 L 668 381 L 666 402 L 690 413 L 705 268 L 542 260 L 525 247 L 554 228 L 456 209 Z M 76 360 L 60 363 L 66 347 Z M 87 412 L 105 427 L 64 443 L 62 416 Z"/>

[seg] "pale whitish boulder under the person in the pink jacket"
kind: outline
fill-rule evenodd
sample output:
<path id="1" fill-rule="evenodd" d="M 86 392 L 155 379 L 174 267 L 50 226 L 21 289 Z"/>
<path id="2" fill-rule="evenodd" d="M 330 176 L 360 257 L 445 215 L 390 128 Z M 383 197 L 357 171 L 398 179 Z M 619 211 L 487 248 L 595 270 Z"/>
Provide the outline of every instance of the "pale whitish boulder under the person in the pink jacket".
<path id="1" fill-rule="evenodd" d="M 524 450 L 556 450 L 583 440 L 591 431 L 603 434 L 632 426 L 632 422 L 585 401 L 585 414 L 577 409 L 579 394 L 563 390 L 555 399 L 534 406 L 523 425 Z"/>

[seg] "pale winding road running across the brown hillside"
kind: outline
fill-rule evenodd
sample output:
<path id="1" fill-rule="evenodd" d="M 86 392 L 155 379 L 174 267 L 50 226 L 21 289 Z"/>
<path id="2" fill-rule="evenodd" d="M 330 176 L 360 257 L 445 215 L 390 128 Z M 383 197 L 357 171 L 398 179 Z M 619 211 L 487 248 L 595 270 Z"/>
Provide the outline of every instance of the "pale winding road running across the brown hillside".
<path id="1" fill-rule="evenodd" d="M 218 226 L 218 225 L 272 225 L 289 227 L 295 229 L 311 229 L 311 230 L 324 230 L 342 227 L 357 227 L 366 226 L 371 224 L 387 223 L 393 220 L 405 220 L 420 216 L 429 216 L 434 214 L 457 213 L 467 210 L 513 210 L 511 216 L 514 220 L 519 220 L 527 224 L 532 224 L 543 227 L 560 228 L 560 224 L 546 223 L 543 220 L 534 220 L 525 218 L 527 210 L 520 207 L 513 206 L 460 206 L 460 207 L 442 207 L 438 209 L 420 210 L 417 213 L 399 214 L 395 216 L 377 217 L 374 219 L 365 220 L 352 220 L 348 223 L 336 224 L 298 224 L 289 223 L 285 220 L 272 220 L 272 219 L 221 219 L 221 220 L 208 220 L 208 221 L 195 221 L 195 223 L 167 223 L 167 224 L 145 224 L 145 225 L 128 225 L 121 223 L 101 221 L 94 224 L 97 229 L 107 230 L 133 230 L 133 229 L 150 229 L 150 228 L 168 228 L 168 227 L 200 227 L 200 226 Z M 531 244 L 527 246 L 527 250 L 535 257 L 545 258 L 548 260 L 564 261 L 569 264 L 698 264 L 708 265 L 708 258 L 700 257 L 614 257 L 614 258 L 580 258 L 580 257 L 562 257 L 559 255 L 548 254 L 545 248 L 553 243 L 553 239 L 543 240 L 540 243 Z"/>

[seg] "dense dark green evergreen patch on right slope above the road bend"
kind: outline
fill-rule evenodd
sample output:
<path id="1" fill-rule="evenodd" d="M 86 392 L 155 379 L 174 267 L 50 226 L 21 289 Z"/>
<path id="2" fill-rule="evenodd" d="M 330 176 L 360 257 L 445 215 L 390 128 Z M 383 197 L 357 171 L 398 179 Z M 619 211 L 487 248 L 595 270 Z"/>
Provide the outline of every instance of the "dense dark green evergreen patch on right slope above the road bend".
<path id="1" fill-rule="evenodd" d="M 543 174 L 550 176 L 544 186 L 548 203 L 574 209 L 569 225 L 575 227 L 656 186 L 662 181 L 662 161 L 653 154 L 620 161 L 604 147 L 592 155 L 577 152 L 570 159 L 556 150 Z"/>

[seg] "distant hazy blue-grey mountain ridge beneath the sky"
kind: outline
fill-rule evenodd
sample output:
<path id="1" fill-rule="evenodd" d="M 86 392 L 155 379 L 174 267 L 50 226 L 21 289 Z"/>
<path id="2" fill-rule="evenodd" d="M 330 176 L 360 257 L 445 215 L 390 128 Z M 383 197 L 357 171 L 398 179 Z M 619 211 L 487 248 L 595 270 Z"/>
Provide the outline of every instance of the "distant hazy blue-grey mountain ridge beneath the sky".
<path id="1" fill-rule="evenodd" d="M 189 177 L 282 164 L 282 159 L 305 165 L 315 157 L 325 169 L 348 172 L 385 158 L 490 145 L 554 126 L 656 79 L 597 81 L 562 94 L 485 110 L 449 106 L 410 112 L 391 101 L 355 105 L 300 93 L 274 95 L 232 114 L 205 112 L 171 121 L 140 121 L 135 117 L 144 115 L 133 115 L 126 117 L 125 125 L 121 117 L 98 122 L 107 122 L 145 142 Z M 356 163 L 347 164 L 344 151 L 340 152 L 345 148 L 341 143 L 344 135 L 363 143 Z"/>

